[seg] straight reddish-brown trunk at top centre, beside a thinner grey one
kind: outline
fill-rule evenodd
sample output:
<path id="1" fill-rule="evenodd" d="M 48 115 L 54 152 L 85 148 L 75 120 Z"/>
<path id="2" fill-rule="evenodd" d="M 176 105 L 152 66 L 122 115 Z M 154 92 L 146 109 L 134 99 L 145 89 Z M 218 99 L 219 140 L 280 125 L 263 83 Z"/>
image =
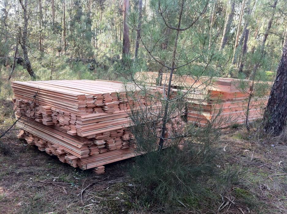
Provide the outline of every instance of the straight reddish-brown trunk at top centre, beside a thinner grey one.
<path id="1" fill-rule="evenodd" d="M 127 16 L 129 13 L 129 0 L 123 0 L 123 56 L 130 53 L 129 27 Z"/>

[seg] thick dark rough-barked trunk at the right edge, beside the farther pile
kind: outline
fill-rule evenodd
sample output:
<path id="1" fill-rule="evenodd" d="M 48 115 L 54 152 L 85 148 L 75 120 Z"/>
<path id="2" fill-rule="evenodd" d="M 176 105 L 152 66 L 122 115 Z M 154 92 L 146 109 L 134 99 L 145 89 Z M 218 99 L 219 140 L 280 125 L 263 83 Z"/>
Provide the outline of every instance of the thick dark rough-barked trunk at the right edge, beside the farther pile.
<path id="1" fill-rule="evenodd" d="M 278 65 L 269 100 L 264 112 L 264 130 L 279 135 L 286 126 L 287 118 L 287 42 Z"/>

